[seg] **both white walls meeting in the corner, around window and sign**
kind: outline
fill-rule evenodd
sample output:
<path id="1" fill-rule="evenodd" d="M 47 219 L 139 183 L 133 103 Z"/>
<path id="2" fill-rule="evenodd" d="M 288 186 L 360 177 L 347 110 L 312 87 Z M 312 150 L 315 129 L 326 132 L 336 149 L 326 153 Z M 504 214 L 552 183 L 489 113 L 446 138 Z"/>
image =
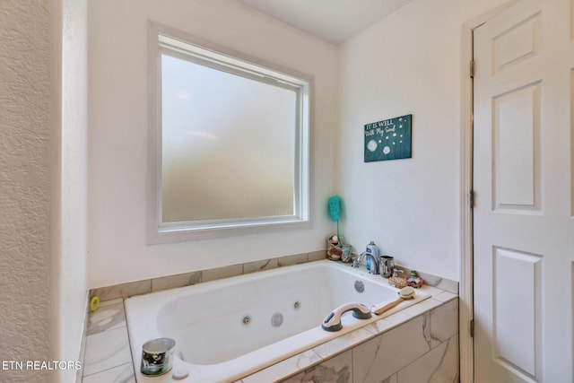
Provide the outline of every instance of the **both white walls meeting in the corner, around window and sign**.
<path id="1" fill-rule="evenodd" d="M 334 191 L 357 251 L 459 280 L 461 30 L 504 3 L 415 0 L 335 48 L 231 0 L 91 2 L 89 287 L 324 248 Z M 147 18 L 315 75 L 312 230 L 146 245 Z M 413 158 L 364 163 L 363 126 L 404 114 Z"/>

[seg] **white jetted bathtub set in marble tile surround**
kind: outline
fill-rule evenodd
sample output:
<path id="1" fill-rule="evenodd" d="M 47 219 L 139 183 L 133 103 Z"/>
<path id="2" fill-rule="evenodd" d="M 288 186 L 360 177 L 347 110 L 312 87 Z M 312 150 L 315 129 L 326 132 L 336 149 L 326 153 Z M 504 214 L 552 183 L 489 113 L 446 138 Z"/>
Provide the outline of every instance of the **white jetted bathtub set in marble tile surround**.
<path id="1" fill-rule="evenodd" d="M 357 292 L 355 284 L 364 291 Z M 364 268 L 324 260 L 129 298 L 135 375 L 139 383 L 173 381 L 171 372 L 150 378 L 139 371 L 142 345 L 170 337 L 176 340 L 173 370 L 189 371 L 178 381 L 233 382 L 428 297 L 417 290 L 415 299 L 370 319 L 347 312 L 343 329 L 327 332 L 320 325 L 336 307 L 347 302 L 380 307 L 396 300 L 397 289 Z"/>

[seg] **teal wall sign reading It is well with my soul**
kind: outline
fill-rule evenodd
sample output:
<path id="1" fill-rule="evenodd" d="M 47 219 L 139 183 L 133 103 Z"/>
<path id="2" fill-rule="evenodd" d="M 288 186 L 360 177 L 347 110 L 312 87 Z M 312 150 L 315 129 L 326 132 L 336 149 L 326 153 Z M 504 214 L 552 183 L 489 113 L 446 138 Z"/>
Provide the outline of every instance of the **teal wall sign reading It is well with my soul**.
<path id="1" fill-rule="evenodd" d="M 365 125 L 365 162 L 411 158 L 413 115 Z"/>

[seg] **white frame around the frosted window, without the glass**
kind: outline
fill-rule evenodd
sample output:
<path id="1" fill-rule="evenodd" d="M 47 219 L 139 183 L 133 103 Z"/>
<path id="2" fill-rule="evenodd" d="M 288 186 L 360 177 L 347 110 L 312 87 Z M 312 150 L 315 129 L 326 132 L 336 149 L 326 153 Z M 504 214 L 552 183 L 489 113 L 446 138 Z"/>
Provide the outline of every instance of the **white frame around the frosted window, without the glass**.
<path id="1" fill-rule="evenodd" d="M 294 89 L 298 94 L 295 144 L 294 215 L 246 219 L 161 222 L 161 54 L 187 59 L 244 77 Z M 148 22 L 148 243 L 228 237 L 311 227 L 310 103 L 312 77 L 247 57 L 179 30 Z"/>

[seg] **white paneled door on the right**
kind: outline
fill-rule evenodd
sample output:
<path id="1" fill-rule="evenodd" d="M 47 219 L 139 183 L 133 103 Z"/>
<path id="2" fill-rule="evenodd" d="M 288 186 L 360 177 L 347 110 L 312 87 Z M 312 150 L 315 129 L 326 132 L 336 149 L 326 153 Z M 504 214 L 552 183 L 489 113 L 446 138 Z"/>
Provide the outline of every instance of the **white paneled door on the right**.
<path id="1" fill-rule="evenodd" d="M 570 0 L 474 30 L 474 381 L 572 382 Z"/>

